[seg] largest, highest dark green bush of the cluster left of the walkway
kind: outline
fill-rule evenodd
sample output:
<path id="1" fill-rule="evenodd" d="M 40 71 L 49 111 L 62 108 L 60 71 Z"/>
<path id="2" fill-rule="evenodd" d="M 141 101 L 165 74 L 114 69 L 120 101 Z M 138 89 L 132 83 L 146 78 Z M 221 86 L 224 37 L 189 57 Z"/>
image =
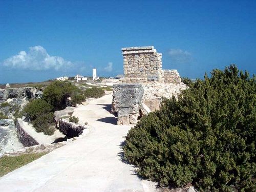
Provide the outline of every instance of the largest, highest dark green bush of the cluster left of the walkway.
<path id="1" fill-rule="evenodd" d="M 42 98 L 53 105 L 55 110 L 61 110 L 66 108 L 67 98 L 79 92 L 79 89 L 69 81 L 53 81 L 42 93 Z"/>

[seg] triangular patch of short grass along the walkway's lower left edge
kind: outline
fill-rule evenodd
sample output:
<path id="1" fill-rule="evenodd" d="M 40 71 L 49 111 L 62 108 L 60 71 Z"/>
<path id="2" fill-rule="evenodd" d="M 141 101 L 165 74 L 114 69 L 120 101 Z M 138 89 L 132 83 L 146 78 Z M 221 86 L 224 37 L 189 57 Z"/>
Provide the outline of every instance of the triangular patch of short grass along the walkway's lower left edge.
<path id="1" fill-rule="evenodd" d="M 35 154 L 25 154 L 25 155 L 19 155 L 19 156 L 1 157 L 0 158 L 0 177 L 40 158 L 45 154 L 46 153 L 35 153 Z"/>

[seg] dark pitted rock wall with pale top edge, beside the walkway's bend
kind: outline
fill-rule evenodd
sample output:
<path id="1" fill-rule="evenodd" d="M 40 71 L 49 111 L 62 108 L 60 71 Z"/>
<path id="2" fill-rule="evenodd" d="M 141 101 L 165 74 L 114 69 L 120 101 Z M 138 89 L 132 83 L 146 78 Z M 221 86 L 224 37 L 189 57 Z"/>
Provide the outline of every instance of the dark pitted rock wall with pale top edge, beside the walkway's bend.
<path id="1" fill-rule="evenodd" d="M 58 120 L 58 129 L 59 131 L 66 135 L 69 138 L 78 137 L 82 134 L 84 129 L 88 129 L 88 125 L 80 125 L 73 122 L 69 122 L 66 119 L 59 119 Z"/>

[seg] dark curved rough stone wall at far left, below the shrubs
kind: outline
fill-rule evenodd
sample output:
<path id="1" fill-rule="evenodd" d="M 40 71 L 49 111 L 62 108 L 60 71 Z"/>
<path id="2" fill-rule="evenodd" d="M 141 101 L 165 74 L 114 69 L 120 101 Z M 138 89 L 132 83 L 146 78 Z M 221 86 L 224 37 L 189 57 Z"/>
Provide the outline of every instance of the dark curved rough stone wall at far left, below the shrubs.
<path id="1" fill-rule="evenodd" d="M 38 145 L 39 143 L 31 137 L 24 129 L 22 120 L 20 118 L 17 119 L 16 122 L 17 136 L 20 143 L 24 146 L 33 146 Z"/>

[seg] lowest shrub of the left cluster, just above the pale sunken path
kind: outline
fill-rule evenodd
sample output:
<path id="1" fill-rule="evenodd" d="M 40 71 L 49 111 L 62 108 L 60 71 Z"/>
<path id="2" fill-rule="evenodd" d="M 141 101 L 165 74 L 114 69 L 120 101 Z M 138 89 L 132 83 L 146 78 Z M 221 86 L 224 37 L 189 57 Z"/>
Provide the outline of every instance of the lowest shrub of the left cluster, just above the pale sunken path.
<path id="1" fill-rule="evenodd" d="M 44 132 L 45 135 L 53 135 L 55 131 L 52 112 L 38 116 L 32 124 L 36 132 Z"/>

